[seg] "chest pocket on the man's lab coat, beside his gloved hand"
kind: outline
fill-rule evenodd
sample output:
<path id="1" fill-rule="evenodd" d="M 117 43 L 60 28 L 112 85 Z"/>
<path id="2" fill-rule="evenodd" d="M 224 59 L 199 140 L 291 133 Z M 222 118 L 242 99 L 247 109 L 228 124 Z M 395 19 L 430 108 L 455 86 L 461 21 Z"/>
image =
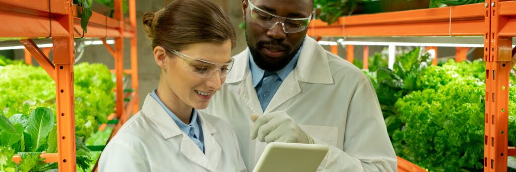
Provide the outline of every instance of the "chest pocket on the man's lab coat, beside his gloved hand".
<path id="1" fill-rule="evenodd" d="M 299 127 L 310 136 L 321 140 L 322 142 L 337 146 L 338 127 L 328 126 L 312 126 L 299 124 Z"/>

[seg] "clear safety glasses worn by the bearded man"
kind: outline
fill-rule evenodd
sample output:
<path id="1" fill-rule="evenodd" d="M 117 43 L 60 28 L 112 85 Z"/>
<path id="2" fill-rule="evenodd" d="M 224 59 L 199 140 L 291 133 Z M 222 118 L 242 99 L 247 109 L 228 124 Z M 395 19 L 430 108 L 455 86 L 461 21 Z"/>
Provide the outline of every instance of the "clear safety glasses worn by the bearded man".
<path id="1" fill-rule="evenodd" d="M 308 18 L 284 18 L 278 15 L 267 12 L 263 9 L 260 9 L 254 6 L 251 3 L 251 0 L 247 1 L 249 3 L 249 8 L 251 9 L 251 18 L 256 23 L 261 26 L 272 29 L 281 23 L 283 26 L 283 31 L 288 34 L 298 33 L 302 30 L 306 29 L 310 24 L 310 20 L 312 19 L 312 14 Z"/>

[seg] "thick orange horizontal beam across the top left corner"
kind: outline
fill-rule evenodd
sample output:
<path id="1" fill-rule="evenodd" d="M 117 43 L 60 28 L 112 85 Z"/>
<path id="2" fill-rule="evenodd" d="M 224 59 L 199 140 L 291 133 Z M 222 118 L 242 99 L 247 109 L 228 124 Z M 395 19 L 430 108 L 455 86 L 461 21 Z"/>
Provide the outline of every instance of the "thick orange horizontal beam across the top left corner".
<path id="1" fill-rule="evenodd" d="M 52 18 L 49 18 L 48 1 L 35 0 L 0 0 L 0 19 L 3 26 L 0 27 L 0 37 L 13 39 L 31 39 L 45 37 L 62 37 L 67 36 L 67 31 L 57 22 L 57 18 L 66 14 L 65 3 L 57 0 L 51 0 Z M 74 8 L 77 8 L 75 6 Z M 80 27 L 80 15 L 74 13 L 75 37 L 82 37 L 83 30 Z M 84 35 L 86 38 L 105 38 L 120 37 L 118 28 L 120 22 L 116 19 L 106 17 L 105 15 L 92 12 L 92 16 L 88 21 L 88 32 Z M 52 23 L 52 24 L 51 24 Z M 51 27 L 52 25 L 52 27 Z M 124 37 L 133 37 L 135 28 L 128 24 L 124 24 Z M 52 35 L 50 29 L 52 28 Z"/>

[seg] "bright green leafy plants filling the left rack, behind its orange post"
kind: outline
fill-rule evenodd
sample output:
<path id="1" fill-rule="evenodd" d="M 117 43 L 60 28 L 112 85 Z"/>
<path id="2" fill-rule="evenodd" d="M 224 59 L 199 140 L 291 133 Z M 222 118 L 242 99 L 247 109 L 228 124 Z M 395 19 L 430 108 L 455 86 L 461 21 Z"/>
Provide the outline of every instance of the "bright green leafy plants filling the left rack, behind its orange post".
<path id="1" fill-rule="evenodd" d="M 74 66 L 76 160 L 79 168 L 88 169 L 92 161 L 90 150 L 83 143 L 98 131 L 100 123 L 107 122 L 107 115 L 114 112 L 114 80 L 115 77 L 102 64 Z M 41 67 L 7 65 L 0 69 L 0 88 L 0 153 L 12 157 L 11 154 L 17 152 L 28 152 L 25 158 L 20 154 L 24 161 L 19 166 L 12 165 L 8 158 L 6 165 L 2 166 L 4 170 L 57 168 L 57 164 L 43 164 L 35 158 L 39 158 L 41 152 L 57 152 L 54 81 Z"/>

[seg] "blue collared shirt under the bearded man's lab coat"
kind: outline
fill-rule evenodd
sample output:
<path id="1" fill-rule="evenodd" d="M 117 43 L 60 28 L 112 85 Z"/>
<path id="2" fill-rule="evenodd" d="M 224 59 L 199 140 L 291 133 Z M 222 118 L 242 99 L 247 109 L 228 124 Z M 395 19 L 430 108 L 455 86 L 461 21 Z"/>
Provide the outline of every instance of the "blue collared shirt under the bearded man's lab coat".
<path id="1" fill-rule="evenodd" d="M 288 62 L 287 66 L 276 72 L 265 71 L 258 67 L 253 60 L 253 56 L 249 53 L 249 67 L 253 76 L 253 87 L 256 90 L 256 95 L 258 95 L 258 100 L 260 100 L 262 111 L 265 111 L 265 108 L 267 108 L 270 100 L 272 100 L 272 97 L 275 95 L 276 91 L 278 91 L 278 88 L 280 88 L 281 83 L 283 83 L 288 74 L 296 68 L 301 49 L 303 49 L 302 44 L 299 51 L 297 51 L 294 58 Z"/>

